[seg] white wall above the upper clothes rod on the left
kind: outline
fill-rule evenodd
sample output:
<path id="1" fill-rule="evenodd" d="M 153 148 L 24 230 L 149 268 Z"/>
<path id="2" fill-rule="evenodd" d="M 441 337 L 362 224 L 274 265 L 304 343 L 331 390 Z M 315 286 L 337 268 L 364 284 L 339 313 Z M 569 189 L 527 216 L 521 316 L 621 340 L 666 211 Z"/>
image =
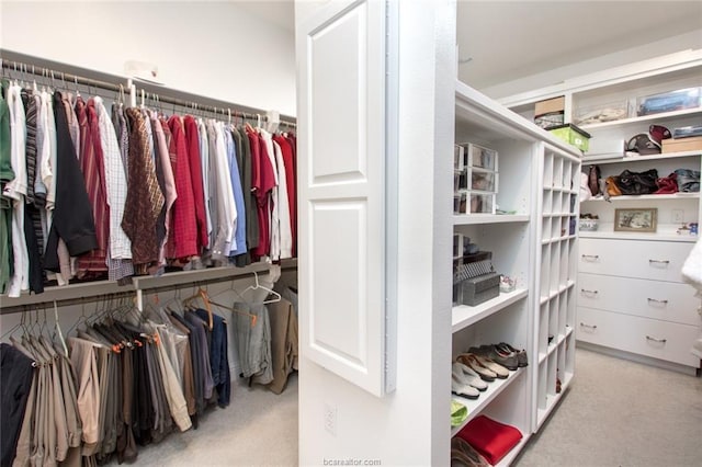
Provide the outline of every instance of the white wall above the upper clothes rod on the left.
<path id="1" fill-rule="evenodd" d="M 2 48 L 124 75 L 152 62 L 166 87 L 295 115 L 291 31 L 237 2 L 0 3 Z"/>

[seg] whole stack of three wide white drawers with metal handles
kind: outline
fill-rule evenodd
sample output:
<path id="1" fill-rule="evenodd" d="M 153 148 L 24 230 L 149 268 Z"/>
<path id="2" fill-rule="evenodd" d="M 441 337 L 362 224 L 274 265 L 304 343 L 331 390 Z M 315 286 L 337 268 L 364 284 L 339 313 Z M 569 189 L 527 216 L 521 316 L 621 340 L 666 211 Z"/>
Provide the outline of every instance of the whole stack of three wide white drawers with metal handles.
<path id="1" fill-rule="evenodd" d="M 690 349 L 702 329 L 700 299 L 680 273 L 692 246 L 580 238 L 577 339 L 699 368 Z"/>

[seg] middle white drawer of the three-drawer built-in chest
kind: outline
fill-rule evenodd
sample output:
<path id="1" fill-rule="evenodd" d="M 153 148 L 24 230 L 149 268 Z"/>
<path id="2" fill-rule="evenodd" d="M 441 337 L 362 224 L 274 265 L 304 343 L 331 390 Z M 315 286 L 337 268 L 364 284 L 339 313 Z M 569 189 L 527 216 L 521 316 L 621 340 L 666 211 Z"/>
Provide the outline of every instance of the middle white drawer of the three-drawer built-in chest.
<path id="1" fill-rule="evenodd" d="M 687 284 L 578 274 L 578 306 L 699 326 L 700 299 Z"/>

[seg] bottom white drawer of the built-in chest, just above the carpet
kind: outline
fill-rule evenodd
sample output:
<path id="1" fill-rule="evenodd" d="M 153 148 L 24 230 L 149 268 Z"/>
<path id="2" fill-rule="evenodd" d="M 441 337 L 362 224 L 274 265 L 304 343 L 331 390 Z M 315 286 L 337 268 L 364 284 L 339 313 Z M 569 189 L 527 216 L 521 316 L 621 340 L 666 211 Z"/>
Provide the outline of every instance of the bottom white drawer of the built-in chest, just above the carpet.
<path id="1" fill-rule="evenodd" d="M 698 326 L 578 307 L 579 341 L 646 355 L 693 367 L 700 358 L 690 353 L 699 338 Z"/>

